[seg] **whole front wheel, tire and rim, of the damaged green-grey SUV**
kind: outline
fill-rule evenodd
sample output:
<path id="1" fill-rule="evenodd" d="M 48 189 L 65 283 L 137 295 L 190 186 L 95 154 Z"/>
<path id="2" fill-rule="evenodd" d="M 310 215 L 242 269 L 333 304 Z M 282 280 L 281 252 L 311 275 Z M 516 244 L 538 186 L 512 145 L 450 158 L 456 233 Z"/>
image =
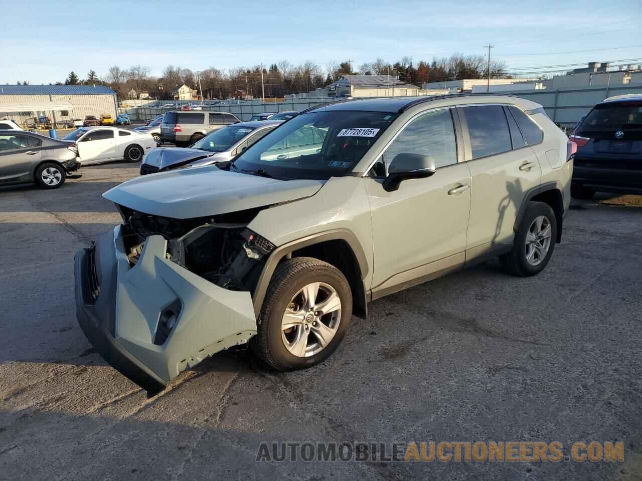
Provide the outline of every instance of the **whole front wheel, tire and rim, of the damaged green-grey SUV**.
<path id="1" fill-rule="evenodd" d="M 279 371 L 314 366 L 340 344 L 351 316 L 352 292 L 341 271 L 311 257 L 288 259 L 270 281 L 252 348 Z"/>

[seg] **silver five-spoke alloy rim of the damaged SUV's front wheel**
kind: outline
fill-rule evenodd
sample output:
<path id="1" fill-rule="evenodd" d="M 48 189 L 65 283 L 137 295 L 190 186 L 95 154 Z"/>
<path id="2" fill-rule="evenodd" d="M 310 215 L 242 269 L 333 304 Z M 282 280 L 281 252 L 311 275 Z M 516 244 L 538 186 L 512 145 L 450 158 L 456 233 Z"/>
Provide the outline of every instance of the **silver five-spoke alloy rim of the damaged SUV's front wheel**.
<path id="1" fill-rule="evenodd" d="M 311 357 L 330 344 L 341 320 L 341 300 L 334 287 L 312 282 L 288 303 L 281 322 L 281 337 L 291 354 Z"/>

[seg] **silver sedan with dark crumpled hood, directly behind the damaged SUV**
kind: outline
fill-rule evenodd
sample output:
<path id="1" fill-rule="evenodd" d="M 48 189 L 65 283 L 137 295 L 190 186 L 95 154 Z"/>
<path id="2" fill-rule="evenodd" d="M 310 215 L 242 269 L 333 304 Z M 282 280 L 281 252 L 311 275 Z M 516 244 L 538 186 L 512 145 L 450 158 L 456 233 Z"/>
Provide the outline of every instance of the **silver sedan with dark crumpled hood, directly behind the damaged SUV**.
<path id="1" fill-rule="evenodd" d="M 202 167 L 230 160 L 262 139 L 282 121 L 249 121 L 205 135 L 190 148 L 156 148 L 147 153 L 141 175 L 185 167 Z"/>

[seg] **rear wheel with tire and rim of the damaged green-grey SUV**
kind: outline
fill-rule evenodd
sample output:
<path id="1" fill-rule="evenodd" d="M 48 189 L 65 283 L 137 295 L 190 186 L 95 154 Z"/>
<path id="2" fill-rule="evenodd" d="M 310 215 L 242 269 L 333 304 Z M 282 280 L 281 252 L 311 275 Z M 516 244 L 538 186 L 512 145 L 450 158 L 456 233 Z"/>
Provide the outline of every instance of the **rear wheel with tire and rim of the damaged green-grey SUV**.
<path id="1" fill-rule="evenodd" d="M 530 201 L 515 234 L 513 248 L 499 257 L 505 271 L 516 276 L 539 274 L 553 255 L 557 219 L 543 202 Z"/>

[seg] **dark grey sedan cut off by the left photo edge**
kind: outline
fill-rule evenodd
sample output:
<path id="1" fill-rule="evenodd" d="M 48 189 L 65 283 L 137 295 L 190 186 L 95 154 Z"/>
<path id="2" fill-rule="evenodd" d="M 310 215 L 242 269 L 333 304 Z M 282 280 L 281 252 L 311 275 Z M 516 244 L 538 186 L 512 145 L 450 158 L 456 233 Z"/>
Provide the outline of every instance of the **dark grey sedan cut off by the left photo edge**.
<path id="1" fill-rule="evenodd" d="M 0 185 L 35 182 L 57 189 L 78 170 L 75 144 L 24 130 L 0 130 Z"/>

